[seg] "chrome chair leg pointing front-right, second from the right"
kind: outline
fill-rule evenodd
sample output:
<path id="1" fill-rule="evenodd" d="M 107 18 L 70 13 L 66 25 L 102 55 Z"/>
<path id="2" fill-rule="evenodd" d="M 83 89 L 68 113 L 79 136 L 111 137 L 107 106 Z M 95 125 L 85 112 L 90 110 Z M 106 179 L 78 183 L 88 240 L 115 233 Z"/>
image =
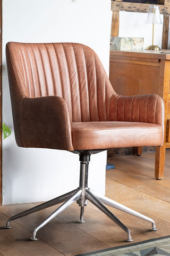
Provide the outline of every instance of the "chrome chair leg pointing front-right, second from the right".
<path id="1" fill-rule="evenodd" d="M 86 198 L 89 199 L 89 201 L 94 204 L 100 211 L 104 212 L 107 217 L 109 217 L 111 220 L 113 220 L 120 228 L 122 228 L 128 235 L 127 242 L 132 242 L 133 239 L 131 237 L 131 231 L 111 212 L 109 211 L 105 205 L 103 205 L 99 199 L 91 193 L 89 189 L 86 190 Z"/>

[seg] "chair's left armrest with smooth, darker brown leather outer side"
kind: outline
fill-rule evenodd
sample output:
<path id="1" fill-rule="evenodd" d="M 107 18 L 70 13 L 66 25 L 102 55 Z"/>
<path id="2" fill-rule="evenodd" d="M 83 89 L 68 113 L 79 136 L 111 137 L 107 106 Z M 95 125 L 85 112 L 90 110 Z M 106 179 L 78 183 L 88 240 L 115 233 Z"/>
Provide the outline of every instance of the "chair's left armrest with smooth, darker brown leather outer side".
<path id="1" fill-rule="evenodd" d="M 23 98 L 21 133 L 24 147 L 73 150 L 65 100 L 56 96 Z"/>

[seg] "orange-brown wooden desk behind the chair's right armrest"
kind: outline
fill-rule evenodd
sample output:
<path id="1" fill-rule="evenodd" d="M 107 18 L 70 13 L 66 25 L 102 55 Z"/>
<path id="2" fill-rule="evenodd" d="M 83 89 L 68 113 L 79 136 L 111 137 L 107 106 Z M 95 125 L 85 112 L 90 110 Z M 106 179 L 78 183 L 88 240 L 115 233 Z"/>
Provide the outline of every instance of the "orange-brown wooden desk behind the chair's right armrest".
<path id="1" fill-rule="evenodd" d="M 154 93 L 164 99 L 164 145 L 163 147 L 156 147 L 155 157 L 155 178 L 162 179 L 164 176 L 165 149 L 170 148 L 170 50 L 111 51 L 109 79 L 118 94 Z"/>

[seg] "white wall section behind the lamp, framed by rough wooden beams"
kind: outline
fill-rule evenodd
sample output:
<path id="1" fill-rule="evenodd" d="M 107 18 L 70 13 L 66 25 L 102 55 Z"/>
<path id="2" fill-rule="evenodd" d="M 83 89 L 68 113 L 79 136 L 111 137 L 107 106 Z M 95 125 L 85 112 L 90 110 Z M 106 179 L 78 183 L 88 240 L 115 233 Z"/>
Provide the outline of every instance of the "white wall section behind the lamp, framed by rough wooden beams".
<path id="1" fill-rule="evenodd" d="M 160 14 L 163 22 L 163 14 Z M 119 37 L 143 37 L 144 49 L 152 45 L 152 24 L 146 24 L 147 13 L 120 11 Z M 163 24 L 155 24 L 154 44 L 162 47 Z"/>

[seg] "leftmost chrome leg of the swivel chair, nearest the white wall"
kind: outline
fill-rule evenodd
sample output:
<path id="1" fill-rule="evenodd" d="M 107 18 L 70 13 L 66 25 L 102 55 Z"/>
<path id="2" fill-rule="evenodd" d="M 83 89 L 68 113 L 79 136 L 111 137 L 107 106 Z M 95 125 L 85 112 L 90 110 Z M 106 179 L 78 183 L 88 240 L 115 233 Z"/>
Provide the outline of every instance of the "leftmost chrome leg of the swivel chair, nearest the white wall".
<path id="1" fill-rule="evenodd" d="M 66 193 L 62 196 L 58 196 L 48 202 L 45 202 L 43 204 L 40 204 L 40 205 L 37 205 L 35 207 L 32 207 L 31 209 L 29 210 L 26 210 L 26 211 L 23 211 L 19 214 L 16 214 L 14 216 L 12 216 L 10 219 L 7 220 L 6 222 L 6 226 L 4 228 L 11 228 L 10 226 L 10 221 L 12 220 L 16 220 L 16 219 L 19 219 L 21 217 L 24 217 L 30 213 L 33 213 L 33 212 L 38 212 L 40 210 L 43 210 L 43 209 L 46 209 L 50 206 L 53 206 L 53 205 L 56 205 L 56 204 L 60 204 L 60 203 L 63 203 L 64 201 L 66 201 L 66 199 L 68 199 L 70 196 L 72 196 L 78 189 L 75 189 L 73 191 L 70 191 L 69 193 Z"/>

